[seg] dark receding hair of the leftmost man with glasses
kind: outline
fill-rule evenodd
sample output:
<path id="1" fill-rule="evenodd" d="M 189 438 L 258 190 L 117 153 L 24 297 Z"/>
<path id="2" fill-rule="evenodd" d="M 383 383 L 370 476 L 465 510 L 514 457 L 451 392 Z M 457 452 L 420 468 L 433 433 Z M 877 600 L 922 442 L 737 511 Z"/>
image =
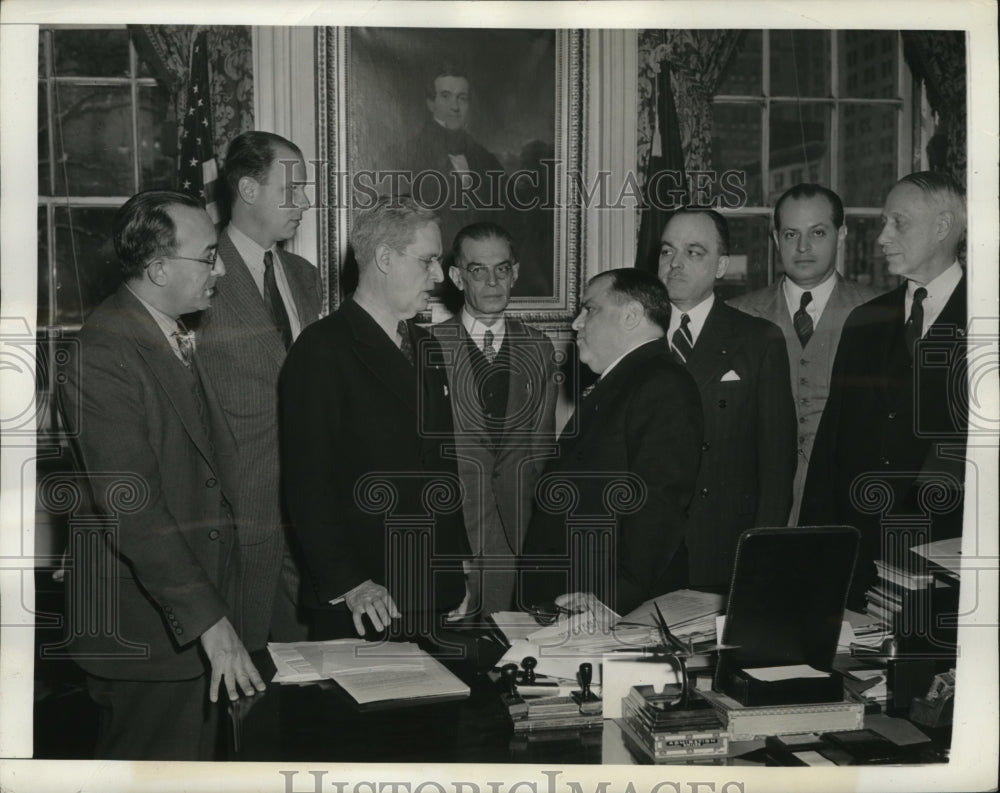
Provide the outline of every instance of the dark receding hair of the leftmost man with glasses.
<path id="1" fill-rule="evenodd" d="M 178 205 L 205 209 L 187 193 L 146 190 L 136 193 L 115 213 L 112 224 L 115 253 L 126 281 L 142 275 L 150 260 L 174 252 L 177 227 L 168 210 Z"/>

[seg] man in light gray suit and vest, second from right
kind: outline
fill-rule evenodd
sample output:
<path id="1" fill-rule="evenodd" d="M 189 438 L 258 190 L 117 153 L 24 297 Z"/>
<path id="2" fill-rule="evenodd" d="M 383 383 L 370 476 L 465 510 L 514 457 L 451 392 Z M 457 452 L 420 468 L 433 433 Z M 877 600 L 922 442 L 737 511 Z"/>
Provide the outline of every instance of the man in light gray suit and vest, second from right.
<path id="1" fill-rule="evenodd" d="M 816 429 L 830 392 L 830 371 L 840 332 L 851 310 L 878 295 L 837 272 L 847 237 L 844 205 L 832 190 L 798 184 L 774 206 L 774 244 L 784 275 L 729 305 L 773 322 L 785 336 L 792 397 L 798 414 L 798 465 L 788 525 L 798 523 L 802 489 Z"/>

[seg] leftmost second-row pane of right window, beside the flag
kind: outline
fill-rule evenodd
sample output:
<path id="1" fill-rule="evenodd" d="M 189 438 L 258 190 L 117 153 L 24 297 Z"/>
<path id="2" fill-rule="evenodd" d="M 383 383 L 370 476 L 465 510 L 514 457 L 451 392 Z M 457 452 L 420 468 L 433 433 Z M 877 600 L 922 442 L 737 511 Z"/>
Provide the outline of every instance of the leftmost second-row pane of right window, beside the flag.
<path id="1" fill-rule="evenodd" d="M 719 174 L 715 180 L 717 192 L 724 179 L 739 178 L 751 206 L 760 204 L 762 196 L 760 116 L 757 105 L 712 105 L 712 167 Z M 725 197 L 722 201 L 723 206 L 729 205 Z"/>

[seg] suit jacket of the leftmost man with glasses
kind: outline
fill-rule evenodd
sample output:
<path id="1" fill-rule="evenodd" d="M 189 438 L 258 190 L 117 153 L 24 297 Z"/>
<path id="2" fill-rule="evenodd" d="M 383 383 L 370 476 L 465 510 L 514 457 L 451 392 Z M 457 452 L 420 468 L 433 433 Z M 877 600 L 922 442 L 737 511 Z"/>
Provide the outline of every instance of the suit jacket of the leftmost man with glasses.
<path id="1" fill-rule="evenodd" d="M 88 549 L 93 529 L 75 526 L 70 576 L 90 576 L 92 586 L 81 591 L 78 579 L 68 587 L 72 652 L 102 677 L 197 677 L 207 665 L 196 639 L 223 616 L 238 624 L 228 604 L 238 573 L 227 497 L 235 485 L 232 435 L 207 379 L 206 433 L 191 373 L 124 286 L 87 319 L 78 352 L 79 379 L 67 367 L 65 413 L 94 504 L 117 530 L 111 543 Z M 130 481 L 116 487 L 123 477 Z M 74 605 L 77 596 L 85 603 Z M 117 637 L 103 623 L 84 624 L 77 611 L 102 596 L 118 606 Z M 122 642 L 146 645 L 148 657 L 123 658 Z"/>

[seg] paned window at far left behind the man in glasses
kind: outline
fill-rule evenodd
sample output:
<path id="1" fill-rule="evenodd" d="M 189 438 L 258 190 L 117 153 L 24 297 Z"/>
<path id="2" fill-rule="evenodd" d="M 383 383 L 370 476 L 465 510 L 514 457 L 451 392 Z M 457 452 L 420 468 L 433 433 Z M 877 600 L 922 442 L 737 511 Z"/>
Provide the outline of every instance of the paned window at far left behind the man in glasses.
<path id="1" fill-rule="evenodd" d="M 177 127 L 125 27 L 39 36 L 38 416 L 51 428 L 60 339 L 120 283 L 115 210 L 139 190 L 175 186 Z"/>

